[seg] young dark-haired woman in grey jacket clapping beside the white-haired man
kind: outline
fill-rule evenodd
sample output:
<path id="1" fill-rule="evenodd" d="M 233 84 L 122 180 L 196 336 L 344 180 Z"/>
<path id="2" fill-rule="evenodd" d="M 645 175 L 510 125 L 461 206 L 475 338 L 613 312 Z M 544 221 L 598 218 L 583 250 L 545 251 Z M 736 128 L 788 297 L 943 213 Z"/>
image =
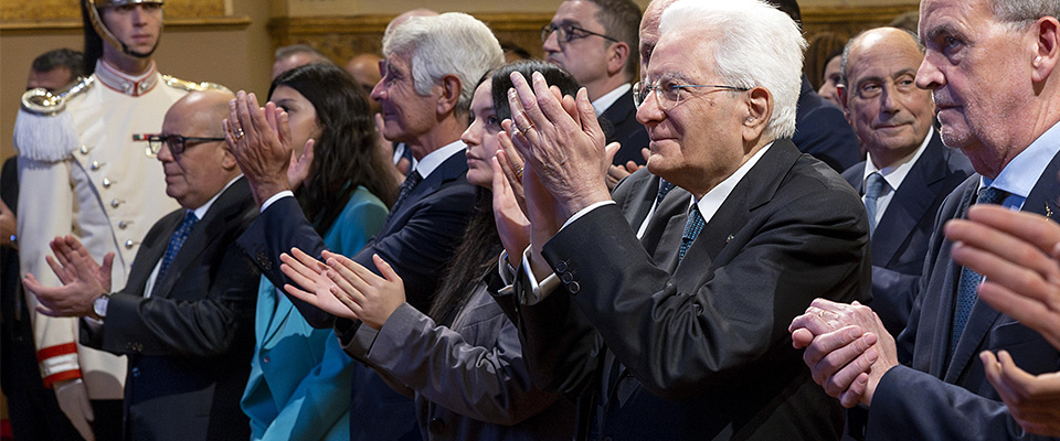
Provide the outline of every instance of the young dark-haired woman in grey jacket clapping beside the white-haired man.
<path id="1" fill-rule="evenodd" d="M 467 181 L 479 186 L 478 203 L 428 313 L 404 301 L 401 278 L 379 256 L 375 265 L 384 277 L 330 252 L 325 252 L 330 268 L 297 250 L 300 261 L 282 257 L 284 273 L 316 290 L 288 288 L 292 295 L 363 322 L 352 335 L 339 335 L 343 347 L 399 391 L 415 395 L 421 432 L 430 440 L 566 440 L 574 433 L 573 406 L 531 385 L 518 331 L 486 281 L 504 248 L 490 190 L 500 121 L 510 117 L 506 93 L 512 72 L 540 72 L 563 94 L 577 89 L 570 74 L 539 61 L 507 64 L 479 82 L 471 123 L 462 137 L 468 146 Z M 330 289 L 327 275 L 338 289 Z"/>

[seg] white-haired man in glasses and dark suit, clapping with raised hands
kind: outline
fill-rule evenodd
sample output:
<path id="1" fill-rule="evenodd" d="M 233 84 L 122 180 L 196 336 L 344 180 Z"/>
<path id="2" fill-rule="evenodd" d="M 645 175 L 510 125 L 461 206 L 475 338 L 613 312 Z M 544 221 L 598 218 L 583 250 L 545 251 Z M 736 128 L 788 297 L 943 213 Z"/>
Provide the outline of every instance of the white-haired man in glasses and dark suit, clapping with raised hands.
<path id="1" fill-rule="evenodd" d="M 598 399 L 583 417 L 600 438 L 837 439 L 841 410 L 784 329 L 817 292 L 865 299 L 868 232 L 850 186 L 787 139 L 805 40 L 759 0 L 679 1 L 659 33 L 637 119 L 648 170 L 691 197 L 664 198 L 640 239 L 607 193 L 586 93 L 572 118 L 541 77 L 512 78 L 534 381 Z"/>

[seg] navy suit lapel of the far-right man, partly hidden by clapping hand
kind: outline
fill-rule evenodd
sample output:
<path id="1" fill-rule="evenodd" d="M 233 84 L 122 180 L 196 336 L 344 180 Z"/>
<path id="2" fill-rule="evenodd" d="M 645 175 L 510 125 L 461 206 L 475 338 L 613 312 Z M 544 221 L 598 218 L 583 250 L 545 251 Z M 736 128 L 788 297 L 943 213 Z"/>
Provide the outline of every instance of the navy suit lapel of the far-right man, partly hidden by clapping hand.
<path id="1" fill-rule="evenodd" d="M 1057 182 L 1058 171 L 1060 171 L 1060 153 L 1052 157 L 1052 161 L 1049 161 L 1049 165 L 1038 176 L 1038 182 L 1030 191 L 1027 200 L 1024 201 L 1020 211 L 1040 215 L 1051 212 L 1056 215 L 1056 201 L 1057 196 L 1060 195 L 1060 183 Z M 947 380 L 951 377 L 956 379 L 967 367 L 983 338 L 986 337 L 999 316 L 1000 313 L 997 310 L 976 300 L 975 305 L 972 306 L 972 312 L 968 314 L 968 323 L 965 325 L 964 333 L 961 334 L 957 347 L 953 352 L 953 359 L 950 363 L 950 369 L 946 372 Z"/>

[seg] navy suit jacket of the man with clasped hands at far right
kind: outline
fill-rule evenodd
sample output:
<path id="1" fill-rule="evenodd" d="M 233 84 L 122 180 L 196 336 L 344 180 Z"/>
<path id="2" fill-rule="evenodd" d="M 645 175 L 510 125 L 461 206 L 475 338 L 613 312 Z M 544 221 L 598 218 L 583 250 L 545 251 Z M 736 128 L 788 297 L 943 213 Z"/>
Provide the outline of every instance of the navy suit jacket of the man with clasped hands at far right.
<path id="1" fill-rule="evenodd" d="M 1060 154 L 1053 157 L 1024 203 L 1022 211 L 1060 213 Z M 1030 374 L 1060 370 L 1060 352 L 1036 331 L 984 302 L 972 308 L 964 334 L 947 359 L 953 302 L 961 267 L 950 258 L 952 245 L 939 233 L 943 223 L 964 217 L 975 202 L 979 175 L 961 184 L 939 211 L 936 234 L 920 282 L 909 325 L 898 338 L 902 363 L 880 380 L 869 409 L 870 440 L 1007 440 L 1039 439 L 1026 434 L 986 380 L 977 355 L 1008 351 Z"/>

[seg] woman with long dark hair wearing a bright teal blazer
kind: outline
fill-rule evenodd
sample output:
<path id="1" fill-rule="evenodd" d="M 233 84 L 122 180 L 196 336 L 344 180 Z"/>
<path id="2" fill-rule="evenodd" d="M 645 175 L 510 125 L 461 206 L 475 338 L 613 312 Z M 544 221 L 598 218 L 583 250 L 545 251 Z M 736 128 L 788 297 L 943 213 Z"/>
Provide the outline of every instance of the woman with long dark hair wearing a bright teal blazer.
<path id="1" fill-rule="evenodd" d="M 329 65 L 287 71 L 268 95 L 287 114 L 287 139 L 300 158 L 288 180 L 306 217 L 328 248 L 357 252 L 382 227 L 395 191 L 382 173 L 368 101 Z M 331 330 L 310 326 L 264 276 L 255 342 L 241 401 L 251 439 L 349 440 L 352 361 Z"/>

